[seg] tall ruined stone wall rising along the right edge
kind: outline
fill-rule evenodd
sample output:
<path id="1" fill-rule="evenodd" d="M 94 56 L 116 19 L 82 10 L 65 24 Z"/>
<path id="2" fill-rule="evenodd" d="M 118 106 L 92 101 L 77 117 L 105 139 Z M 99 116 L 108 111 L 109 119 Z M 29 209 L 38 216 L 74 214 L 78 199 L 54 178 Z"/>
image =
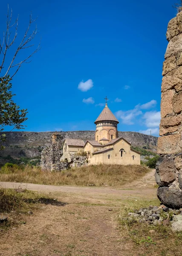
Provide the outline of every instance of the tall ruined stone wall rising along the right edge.
<path id="1" fill-rule="evenodd" d="M 169 41 L 163 63 L 161 123 L 156 182 L 159 200 L 182 206 L 182 12 L 168 23 Z"/>

